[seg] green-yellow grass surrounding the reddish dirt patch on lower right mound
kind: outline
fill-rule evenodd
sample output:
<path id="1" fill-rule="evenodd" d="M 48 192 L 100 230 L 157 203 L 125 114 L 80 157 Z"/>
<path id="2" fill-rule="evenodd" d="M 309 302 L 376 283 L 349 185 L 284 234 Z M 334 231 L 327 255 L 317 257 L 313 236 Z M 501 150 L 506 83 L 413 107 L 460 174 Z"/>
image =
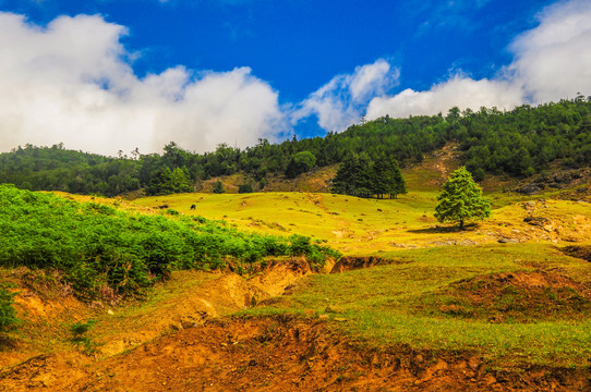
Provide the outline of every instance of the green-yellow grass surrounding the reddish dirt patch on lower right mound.
<path id="1" fill-rule="evenodd" d="M 589 262 L 544 244 L 448 246 L 399 250 L 388 257 L 395 264 L 309 277 L 293 295 L 248 313 L 327 315 L 340 321 L 333 323 L 335 328 L 373 346 L 408 344 L 470 351 L 484 356 L 491 366 L 588 365 L 591 315 L 579 315 L 576 321 L 493 323 L 445 313 L 427 314 L 417 305 L 425 295 L 481 274 L 541 269 L 589 284 Z"/>

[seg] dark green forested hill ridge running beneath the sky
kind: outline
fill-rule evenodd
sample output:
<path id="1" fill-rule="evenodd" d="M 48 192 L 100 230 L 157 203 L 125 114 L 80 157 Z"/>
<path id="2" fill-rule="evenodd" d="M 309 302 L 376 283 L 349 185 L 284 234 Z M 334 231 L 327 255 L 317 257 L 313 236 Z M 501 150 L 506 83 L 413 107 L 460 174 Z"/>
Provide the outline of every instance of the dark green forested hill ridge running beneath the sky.
<path id="1" fill-rule="evenodd" d="M 350 155 L 371 161 L 394 157 L 401 166 L 446 143 L 460 145 L 477 180 L 486 173 L 530 176 L 559 160 L 565 167 L 591 163 L 591 97 L 408 119 L 381 118 L 325 137 L 269 144 L 261 139 L 246 149 L 220 145 L 192 154 L 170 143 L 161 155 L 132 152 L 106 158 L 65 150 L 62 145 L 27 145 L 0 155 L 0 183 L 29 189 L 113 196 L 144 187 L 148 194 L 188 192 L 195 182 L 243 172 L 264 187 L 269 173 L 287 177 L 314 167 L 339 163 Z"/>

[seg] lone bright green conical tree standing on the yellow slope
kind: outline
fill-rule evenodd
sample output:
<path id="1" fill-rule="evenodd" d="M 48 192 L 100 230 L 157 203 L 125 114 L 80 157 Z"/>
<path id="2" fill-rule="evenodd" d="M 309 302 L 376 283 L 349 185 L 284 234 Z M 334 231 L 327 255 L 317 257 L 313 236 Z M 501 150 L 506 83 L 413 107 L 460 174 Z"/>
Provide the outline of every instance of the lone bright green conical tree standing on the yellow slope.
<path id="1" fill-rule="evenodd" d="M 466 221 L 491 216 L 491 201 L 482 197 L 482 189 L 466 167 L 451 173 L 442 188 L 435 207 L 437 221 L 459 222 L 460 230 L 463 230 Z"/>

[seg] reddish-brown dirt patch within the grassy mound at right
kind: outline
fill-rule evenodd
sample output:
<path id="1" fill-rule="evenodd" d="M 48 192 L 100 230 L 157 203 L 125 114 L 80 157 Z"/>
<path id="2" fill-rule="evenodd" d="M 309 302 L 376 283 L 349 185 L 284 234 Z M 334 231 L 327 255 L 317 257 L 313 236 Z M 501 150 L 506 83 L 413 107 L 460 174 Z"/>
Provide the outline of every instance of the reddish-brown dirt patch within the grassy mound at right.
<path id="1" fill-rule="evenodd" d="M 435 302 L 438 311 L 502 322 L 578 319 L 591 313 L 591 286 L 544 271 L 479 275 L 454 283 Z"/>

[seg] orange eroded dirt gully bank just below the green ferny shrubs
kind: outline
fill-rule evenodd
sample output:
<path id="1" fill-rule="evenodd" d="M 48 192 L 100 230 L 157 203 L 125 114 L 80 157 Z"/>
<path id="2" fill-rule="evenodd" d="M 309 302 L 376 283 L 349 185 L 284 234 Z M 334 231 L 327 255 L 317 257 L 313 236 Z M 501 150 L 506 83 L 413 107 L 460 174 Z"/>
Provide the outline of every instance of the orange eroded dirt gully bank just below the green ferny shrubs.
<path id="1" fill-rule="evenodd" d="M 162 334 L 203 324 L 207 319 L 282 295 L 287 287 L 293 286 L 312 270 L 304 258 L 293 258 L 269 261 L 253 272 L 250 279 L 231 272 L 212 273 L 205 281 L 195 281 L 201 283 L 185 284 L 181 292 L 160 299 L 156 306 L 129 313 L 125 306 L 112 306 L 116 304 L 108 301 L 79 301 L 69 285 L 55 273 L 17 269 L 9 278 L 21 287 L 14 290 L 17 294 L 14 298 L 17 317 L 24 321 L 19 329 L 28 336 L 0 342 L 0 368 L 40 353 L 72 350 L 68 343 L 71 338 L 69 326 L 89 319 L 98 320 L 89 333 L 93 341 L 100 343 L 94 347 L 94 357 L 112 356 Z M 183 271 L 180 278 L 191 282 L 192 278 L 188 277 L 193 273 L 204 274 Z M 134 304 L 130 306 L 133 308 Z M 119 317 L 125 313 L 124 318 Z"/>

